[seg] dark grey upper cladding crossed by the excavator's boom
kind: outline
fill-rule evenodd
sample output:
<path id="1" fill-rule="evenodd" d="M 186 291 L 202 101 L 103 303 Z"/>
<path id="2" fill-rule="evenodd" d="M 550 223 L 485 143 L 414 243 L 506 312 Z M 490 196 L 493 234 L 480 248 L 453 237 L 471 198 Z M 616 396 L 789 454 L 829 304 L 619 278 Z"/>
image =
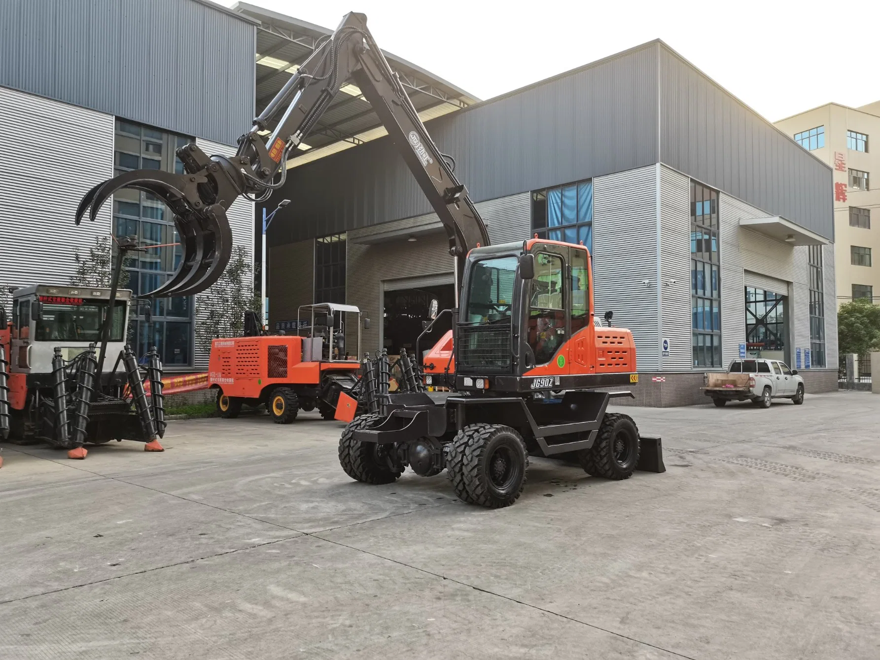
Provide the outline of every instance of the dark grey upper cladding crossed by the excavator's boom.
<path id="1" fill-rule="evenodd" d="M 475 202 L 657 162 L 655 44 L 427 123 Z M 429 204 L 383 137 L 297 167 L 272 245 L 419 216 Z M 273 198 L 273 203 L 275 202 Z M 273 207 L 274 208 L 274 207 Z"/>

